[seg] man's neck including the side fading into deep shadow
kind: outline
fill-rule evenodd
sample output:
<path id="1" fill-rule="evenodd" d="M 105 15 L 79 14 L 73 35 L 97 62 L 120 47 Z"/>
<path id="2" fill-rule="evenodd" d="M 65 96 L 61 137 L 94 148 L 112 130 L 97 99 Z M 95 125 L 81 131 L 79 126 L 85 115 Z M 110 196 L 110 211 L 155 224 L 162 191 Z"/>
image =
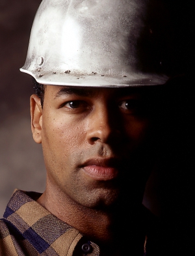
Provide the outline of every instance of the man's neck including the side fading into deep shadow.
<path id="1" fill-rule="evenodd" d="M 133 213 L 129 209 L 127 212 L 128 207 L 124 203 L 117 205 L 112 210 L 87 208 L 73 202 L 59 188 L 54 190 L 48 186 L 37 201 L 57 218 L 79 230 L 80 233 L 96 242 L 102 248 L 113 249 L 114 244 L 119 244 L 119 236 L 123 236 L 124 231 L 128 229 L 132 231 L 132 237 L 135 236 L 131 227 L 131 225 L 135 225 L 135 218 L 131 218 Z M 122 208 L 122 205 L 125 205 L 125 208 Z M 117 248 L 114 248 L 114 252 L 107 253 L 107 255 L 115 256 L 120 254 L 117 253 Z"/>

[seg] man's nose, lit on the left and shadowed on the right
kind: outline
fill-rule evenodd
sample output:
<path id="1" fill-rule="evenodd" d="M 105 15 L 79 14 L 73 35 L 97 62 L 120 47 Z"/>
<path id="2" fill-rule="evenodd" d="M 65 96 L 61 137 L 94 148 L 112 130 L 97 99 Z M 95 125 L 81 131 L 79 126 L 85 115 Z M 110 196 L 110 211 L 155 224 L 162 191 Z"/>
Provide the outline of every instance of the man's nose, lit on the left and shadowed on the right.
<path id="1" fill-rule="evenodd" d="M 94 109 L 88 120 L 88 129 L 86 132 L 88 143 L 92 145 L 97 141 L 109 143 L 110 139 L 118 140 L 120 130 L 118 127 L 119 120 L 116 119 L 116 113 L 109 111 L 105 106 Z"/>

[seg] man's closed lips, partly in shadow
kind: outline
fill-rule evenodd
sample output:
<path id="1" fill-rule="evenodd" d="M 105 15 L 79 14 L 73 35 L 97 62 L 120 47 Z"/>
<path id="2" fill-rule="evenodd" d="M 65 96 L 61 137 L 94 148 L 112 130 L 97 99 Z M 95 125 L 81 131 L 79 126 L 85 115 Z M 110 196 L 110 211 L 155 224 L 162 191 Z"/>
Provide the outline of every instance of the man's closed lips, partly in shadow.
<path id="1" fill-rule="evenodd" d="M 83 171 L 95 180 L 112 180 L 118 176 L 118 168 L 114 159 L 92 159 L 85 162 Z"/>

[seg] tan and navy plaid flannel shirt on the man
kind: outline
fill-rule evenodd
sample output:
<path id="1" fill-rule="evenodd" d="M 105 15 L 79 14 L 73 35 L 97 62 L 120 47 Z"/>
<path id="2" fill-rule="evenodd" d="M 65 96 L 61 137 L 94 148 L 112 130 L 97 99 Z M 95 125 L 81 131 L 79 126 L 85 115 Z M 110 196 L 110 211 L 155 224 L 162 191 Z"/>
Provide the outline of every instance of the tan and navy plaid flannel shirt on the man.
<path id="1" fill-rule="evenodd" d="M 97 244 L 35 201 L 40 195 L 13 193 L 0 220 L 0 255 L 99 256 Z"/>

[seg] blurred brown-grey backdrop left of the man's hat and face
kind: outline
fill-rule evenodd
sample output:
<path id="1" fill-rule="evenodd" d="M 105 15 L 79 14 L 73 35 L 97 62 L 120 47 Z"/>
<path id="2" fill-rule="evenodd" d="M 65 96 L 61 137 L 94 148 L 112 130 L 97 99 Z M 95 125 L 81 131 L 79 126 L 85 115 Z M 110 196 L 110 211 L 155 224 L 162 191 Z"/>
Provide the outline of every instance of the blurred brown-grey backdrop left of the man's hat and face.
<path id="1" fill-rule="evenodd" d="M 44 190 L 41 145 L 32 140 L 31 79 L 23 66 L 40 0 L 0 0 L 0 216 L 15 188 Z"/>

